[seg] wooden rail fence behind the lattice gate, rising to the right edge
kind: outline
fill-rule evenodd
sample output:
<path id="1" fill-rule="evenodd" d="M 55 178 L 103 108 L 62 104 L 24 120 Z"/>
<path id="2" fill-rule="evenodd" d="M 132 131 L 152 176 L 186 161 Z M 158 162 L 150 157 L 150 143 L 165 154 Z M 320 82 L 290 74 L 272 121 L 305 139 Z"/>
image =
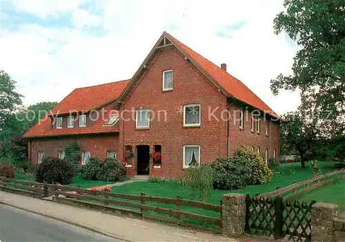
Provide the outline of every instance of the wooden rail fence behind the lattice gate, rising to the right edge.
<path id="1" fill-rule="evenodd" d="M 330 179 L 332 177 L 335 177 L 339 174 L 343 174 L 341 177 L 337 177 L 338 179 L 345 179 L 345 169 L 344 170 L 337 170 L 335 172 L 319 175 L 317 177 L 313 177 L 311 179 L 306 179 L 306 181 L 302 181 L 297 183 L 296 181 L 292 185 L 288 185 L 285 188 L 281 188 L 280 185 L 277 186 L 276 190 L 273 192 L 267 192 L 264 194 L 257 194 L 257 196 L 261 196 L 263 198 L 268 198 L 270 196 L 282 196 L 283 194 L 286 194 L 287 192 L 292 192 L 291 194 L 287 194 L 284 196 L 284 199 L 289 199 L 292 196 L 296 196 L 297 194 L 300 194 L 302 192 L 308 192 L 310 190 L 313 190 L 315 188 L 318 188 L 319 186 L 322 186 L 326 183 L 330 183 L 334 181 L 334 179 Z M 305 186 L 305 188 L 303 188 Z M 302 189 L 301 189 L 302 188 Z"/>

